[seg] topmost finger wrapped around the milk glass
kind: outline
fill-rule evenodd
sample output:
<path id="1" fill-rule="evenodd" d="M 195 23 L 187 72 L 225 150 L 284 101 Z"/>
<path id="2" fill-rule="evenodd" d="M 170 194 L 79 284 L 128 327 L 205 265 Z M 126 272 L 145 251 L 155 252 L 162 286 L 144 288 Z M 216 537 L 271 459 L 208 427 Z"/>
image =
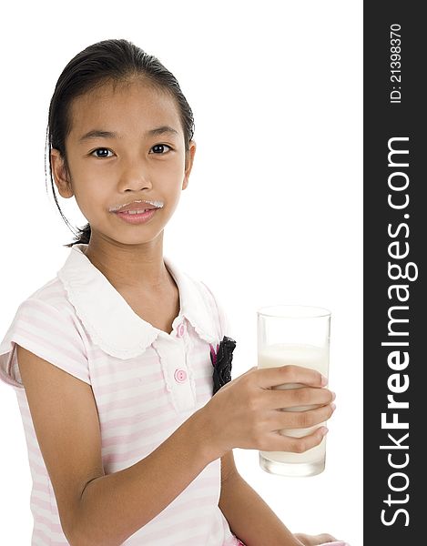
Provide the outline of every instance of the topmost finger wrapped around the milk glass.
<path id="1" fill-rule="evenodd" d="M 279 368 L 254 369 L 258 386 L 270 389 L 284 383 L 303 383 L 309 387 L 324 387 L 328 379 L 319 371 L 301 366 L 280 366 Z"/>

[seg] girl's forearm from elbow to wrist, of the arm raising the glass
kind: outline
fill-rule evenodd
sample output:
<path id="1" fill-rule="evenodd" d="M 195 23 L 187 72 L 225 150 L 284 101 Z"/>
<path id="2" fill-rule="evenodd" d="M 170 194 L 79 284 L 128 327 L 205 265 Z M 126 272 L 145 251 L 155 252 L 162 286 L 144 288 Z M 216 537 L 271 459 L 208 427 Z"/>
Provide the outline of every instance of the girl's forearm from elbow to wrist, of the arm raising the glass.
<path id="1" fill-rule="evenodd" d="M 193 414 L 145 459 L 86 484 L 73 546 L 122 544 L 186 489 L 210 462 L 198 417 Z"/>

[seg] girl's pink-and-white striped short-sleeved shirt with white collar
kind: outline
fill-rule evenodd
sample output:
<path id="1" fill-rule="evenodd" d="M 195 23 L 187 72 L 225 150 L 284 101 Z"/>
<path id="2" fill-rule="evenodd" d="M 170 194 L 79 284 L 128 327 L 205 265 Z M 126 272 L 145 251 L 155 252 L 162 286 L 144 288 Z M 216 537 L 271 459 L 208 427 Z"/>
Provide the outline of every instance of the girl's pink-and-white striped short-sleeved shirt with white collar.
<path id="1" fill-rule="evenodd" d="M 33 480 L 32 546 L 68 544 L 58 516 L 16 362 L 15 343 L 91 385 L 106 474 L 144 459 L 212 396 L 214 347 L 231 335 L 209 288 L 165 264 L 177 282 L 180 310 L 166 333 L 138 317 L 85 256 L 70 249 L 56 278 L 25 299 L 0 345 L 0 379 L 15 389 Z M 177 472 L 180 461 L 176 461 Z M 202 470 L 128 546 L 239 544 L 219 509 L 220 459 Z"/>

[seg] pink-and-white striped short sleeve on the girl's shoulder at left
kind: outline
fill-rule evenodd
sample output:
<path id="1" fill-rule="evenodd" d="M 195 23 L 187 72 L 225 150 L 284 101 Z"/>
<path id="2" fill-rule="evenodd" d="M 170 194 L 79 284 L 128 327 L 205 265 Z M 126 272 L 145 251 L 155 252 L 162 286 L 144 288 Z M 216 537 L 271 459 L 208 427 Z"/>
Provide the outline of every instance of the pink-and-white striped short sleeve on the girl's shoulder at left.
<path id="1" fill-rule="evenodd" d="M 87 351 L 76 317 L 41 299 L 28 298 L 17 308 L 15 318 L 0 344 L 0 379 L 23 389 L 16 359 L 16 343 L 91 384 Z"/>

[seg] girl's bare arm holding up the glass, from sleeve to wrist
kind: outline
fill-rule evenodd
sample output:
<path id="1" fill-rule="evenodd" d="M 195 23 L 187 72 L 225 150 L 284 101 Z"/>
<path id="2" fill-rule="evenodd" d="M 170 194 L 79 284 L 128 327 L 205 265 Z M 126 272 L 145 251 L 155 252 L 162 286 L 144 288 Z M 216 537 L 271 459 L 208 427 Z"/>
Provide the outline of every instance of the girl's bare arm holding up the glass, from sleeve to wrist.
<path id="1" fill-rule="evenodd" d="M 198 410 L 145 459 L 105 475 L 91 386 L 19 345 L 17 358 L 71 546 L 122 544 L 215 460 Z"/>

